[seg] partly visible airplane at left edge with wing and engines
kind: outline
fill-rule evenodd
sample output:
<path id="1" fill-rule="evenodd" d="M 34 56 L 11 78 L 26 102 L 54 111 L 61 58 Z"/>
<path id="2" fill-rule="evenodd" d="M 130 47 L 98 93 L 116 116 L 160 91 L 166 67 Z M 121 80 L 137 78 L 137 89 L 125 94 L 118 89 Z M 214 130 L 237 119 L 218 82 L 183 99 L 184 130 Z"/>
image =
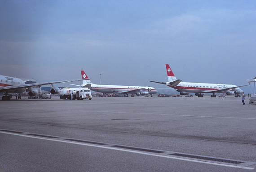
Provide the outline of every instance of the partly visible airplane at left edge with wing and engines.
<path id="1" fill-rule="evenodd" d="M 27 88 L 29 90 L 29 92 L 28 92 L 29 96 L 37 96 L 39 91 L 37 89 L 35 89 L 34 87 L 49 84 L 52 88 L 50 92 L 52 94 L 57 94 L 60 92 L 60 88 L 54 87 L 53 84 L 74 82 L 74 81 L 80 81 L 80 80 L 85 80 L 85 79 L 25 84 L 25 82 L 22 79 L 0 75 L 0 92 L 4 92 L 4 94 L 5 94 L 2 97 L 2 100 L 9 101 L 11 99 L 11 96 L 9 96 L 9 92 L 22 93 L 22 92 L 26 92 L 26 88 Z"/>

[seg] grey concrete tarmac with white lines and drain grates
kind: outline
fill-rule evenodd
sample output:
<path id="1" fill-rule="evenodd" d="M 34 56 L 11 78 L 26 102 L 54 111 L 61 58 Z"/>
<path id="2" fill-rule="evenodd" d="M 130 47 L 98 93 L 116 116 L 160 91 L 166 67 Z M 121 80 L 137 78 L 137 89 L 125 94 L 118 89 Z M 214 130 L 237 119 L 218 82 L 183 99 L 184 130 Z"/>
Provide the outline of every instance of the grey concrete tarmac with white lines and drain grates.
<path id="1" fill-rule="evenodd" d="M 0 171 L 253 172 L 256 105 L 248 101 L 210 96 L 0 101 Z"/>

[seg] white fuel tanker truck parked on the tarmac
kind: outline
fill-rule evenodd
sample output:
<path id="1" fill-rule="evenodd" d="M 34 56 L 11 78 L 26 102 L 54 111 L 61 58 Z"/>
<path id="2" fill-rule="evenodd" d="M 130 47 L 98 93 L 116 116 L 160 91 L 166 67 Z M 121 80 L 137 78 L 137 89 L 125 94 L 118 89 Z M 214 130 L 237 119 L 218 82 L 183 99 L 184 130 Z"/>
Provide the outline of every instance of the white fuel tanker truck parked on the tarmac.
<path id="1" fill-rule="evenodd" d="M 71 100 L 71 94 L 73 93 L 72 100 L 92 100 L 91 90 L 89 88 L 63 88 L 60 90 L 61 99 Z"/>

